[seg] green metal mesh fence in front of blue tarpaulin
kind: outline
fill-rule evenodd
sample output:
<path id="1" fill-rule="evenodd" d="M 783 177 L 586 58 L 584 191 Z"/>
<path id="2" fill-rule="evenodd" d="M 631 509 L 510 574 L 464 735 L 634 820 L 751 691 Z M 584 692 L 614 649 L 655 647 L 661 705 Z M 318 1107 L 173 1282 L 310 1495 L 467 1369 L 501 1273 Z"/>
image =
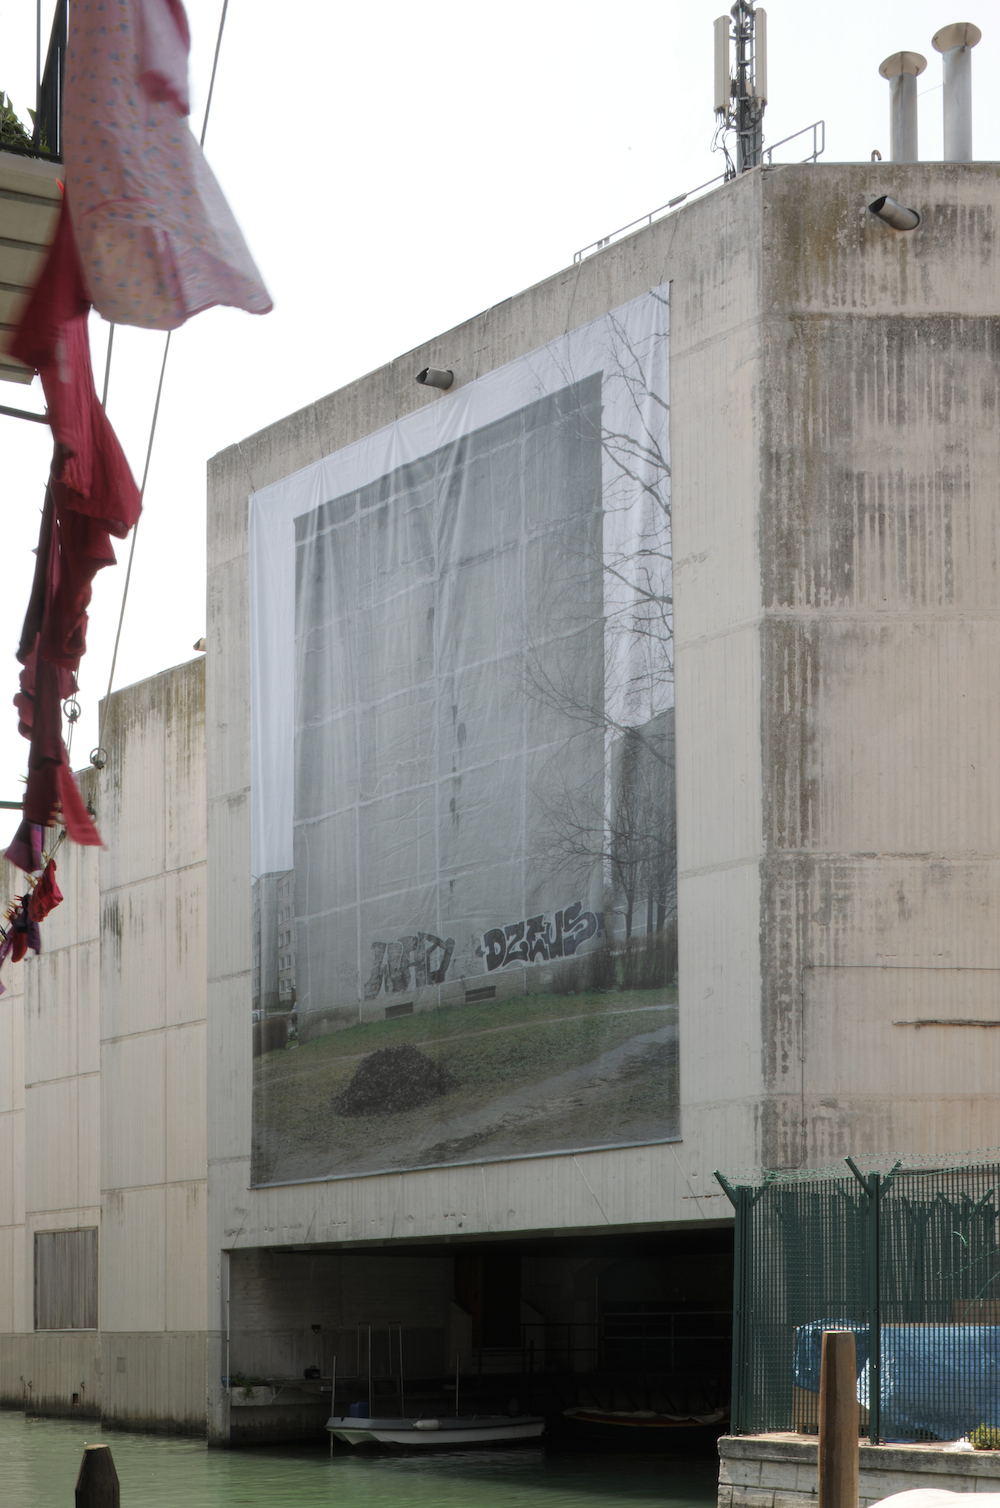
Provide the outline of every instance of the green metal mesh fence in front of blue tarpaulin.
<path id="1" fill-rule="evenodd" d="M 824 1330 L 851 1329 L 858 1428 L 1000 1430 L 1000 1164 L 768 1175 L 736 1214 L 732 1430 L 814 1430 Z"/>

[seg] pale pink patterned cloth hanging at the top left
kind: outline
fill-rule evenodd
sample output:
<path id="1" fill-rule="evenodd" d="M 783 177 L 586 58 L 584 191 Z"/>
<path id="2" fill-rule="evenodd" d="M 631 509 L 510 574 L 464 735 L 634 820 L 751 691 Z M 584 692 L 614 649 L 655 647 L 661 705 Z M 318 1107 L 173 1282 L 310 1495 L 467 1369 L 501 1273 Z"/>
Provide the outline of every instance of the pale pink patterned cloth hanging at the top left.
<path id="1" fill-rule="evenodd" d="M 74 0 L 69 8 L 66 198 L 87 294 L 118 324 L 172 330 L 213 305 L 252 314 L 271 308 L 178 115 L 187 106 L 178 63 L 186 50 L 179 0 Z"/>

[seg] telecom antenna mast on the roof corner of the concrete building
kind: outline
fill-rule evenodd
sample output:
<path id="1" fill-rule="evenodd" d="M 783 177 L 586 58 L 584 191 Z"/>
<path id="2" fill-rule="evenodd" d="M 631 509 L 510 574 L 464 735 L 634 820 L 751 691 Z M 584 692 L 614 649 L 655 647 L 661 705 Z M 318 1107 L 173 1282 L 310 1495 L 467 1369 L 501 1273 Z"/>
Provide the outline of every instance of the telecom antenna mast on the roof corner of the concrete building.
<path id="1" fill-rule="evenodd" d="M 732 18 L 732 23 L 730 23 Z M 735 54 L 735 66 L 733 66 Z M 763 160 L 763 107 L 768 103 L 768 12 L 736 0 L 715 23 L 716 137 L 736 133 L 736 163 L 725 151 L 725 176 L 735 178 Z"/>

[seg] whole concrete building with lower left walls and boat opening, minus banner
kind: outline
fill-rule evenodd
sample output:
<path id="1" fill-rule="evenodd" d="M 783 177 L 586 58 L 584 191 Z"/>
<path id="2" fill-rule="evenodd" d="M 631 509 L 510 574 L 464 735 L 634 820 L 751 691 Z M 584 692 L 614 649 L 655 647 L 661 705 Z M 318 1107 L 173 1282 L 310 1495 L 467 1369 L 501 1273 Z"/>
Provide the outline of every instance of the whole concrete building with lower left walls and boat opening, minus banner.
<path id="1" fill-rule="evenodd" d="M 0 1000 L 5 1402 L 24 1377 L 33 1408 L 276 1439 L 321 1427 L 335 1356 L 357 1396 L 388 1399 L 401 1332 L 428 1396 L 456 1357 L 486 1393 L 510 1386 L 534 1341 L 535 1402 L 656 1353 L 688 1407 L 724 1396 L 729 1366 L 713 1169 L 995 1143 L 995 1031 L 970 1022 L 997 1018 L 1000 979 L 998 176 L 748 172 L 213 458 L 204 742 L 199 665 L 116 698 L 94 787 L 107 852 L 66 857 L 47 952 Z M 914 232 L 869 213 L 887 192 L 919 208 Z M 424 366 L 460 392 L 664 285 L 677 1133 L 265 1184 L 255 1072 L 299 1054 L 255 1068 L 249 1019 L 271 986 L 250 897 L 247 474 L 258 493 L 446 404 L 415 385 Z M 273 873 L 291 900 L 267 926 L 302 1003 L 312 938 L 281 941 L 299 852 Z M 617 927 L 620 897 L 605 905 Z M 87 1229 L 97 1329 L 35 1329 L 35 1234 Z M 668 1365 L 679 1326 L 691 1345 Z M 258 1381 L 279 1377 L 299 1389 Z"/>

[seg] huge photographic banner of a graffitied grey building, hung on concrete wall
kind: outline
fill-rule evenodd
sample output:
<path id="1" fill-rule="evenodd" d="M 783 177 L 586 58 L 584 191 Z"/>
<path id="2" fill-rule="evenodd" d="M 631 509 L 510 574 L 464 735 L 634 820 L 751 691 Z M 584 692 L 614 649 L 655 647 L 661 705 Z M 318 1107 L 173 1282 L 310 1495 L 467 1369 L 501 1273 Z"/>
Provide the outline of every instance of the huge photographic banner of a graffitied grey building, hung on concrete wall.
<path id="1" fill-rule="evenodd" d="M 667 379 L 659 288 L 250 498 L 253 1184 L 679 1136 Z"/>

